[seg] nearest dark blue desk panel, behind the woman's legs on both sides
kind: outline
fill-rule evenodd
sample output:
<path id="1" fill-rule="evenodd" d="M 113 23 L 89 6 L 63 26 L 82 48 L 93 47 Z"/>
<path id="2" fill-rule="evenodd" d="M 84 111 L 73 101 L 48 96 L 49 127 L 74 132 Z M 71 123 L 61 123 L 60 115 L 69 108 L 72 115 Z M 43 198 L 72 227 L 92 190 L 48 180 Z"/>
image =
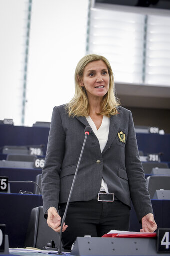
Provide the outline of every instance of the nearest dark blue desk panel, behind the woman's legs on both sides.
<path id="1" fill-rule="evenodd" d="M 170 200 L 151 200 L 158 227 L 170 228 Z M 31 209 L 42 206 L 41 195 L 0 194 L 0 223 L 6 224 L 10 248 L 23 248 Z M 139 231 L 135 211 L 130 213 L 130 231 Z M 50 237 L 49 237 L 50 242 Z"/>

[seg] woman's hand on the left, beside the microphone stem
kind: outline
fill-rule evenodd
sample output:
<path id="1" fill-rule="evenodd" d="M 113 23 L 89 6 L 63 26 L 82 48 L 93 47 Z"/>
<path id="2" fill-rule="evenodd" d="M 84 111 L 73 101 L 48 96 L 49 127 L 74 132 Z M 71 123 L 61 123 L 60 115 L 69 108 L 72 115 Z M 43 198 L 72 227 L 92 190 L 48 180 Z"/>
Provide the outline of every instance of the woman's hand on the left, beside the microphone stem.
<path id="1" fill-rule="evenodd" d="M 47 224 L 49 227 L 51 227 L 55 232 L 60 232 L 61 229 L 61 217 L 58 214 L 55 207 L 50 207 L 48 209 L 48 218 L 47 218 Z M 68 226 L 65 225 L 65 222 L 63 224 L 62 232 L 66 230 Z"/>

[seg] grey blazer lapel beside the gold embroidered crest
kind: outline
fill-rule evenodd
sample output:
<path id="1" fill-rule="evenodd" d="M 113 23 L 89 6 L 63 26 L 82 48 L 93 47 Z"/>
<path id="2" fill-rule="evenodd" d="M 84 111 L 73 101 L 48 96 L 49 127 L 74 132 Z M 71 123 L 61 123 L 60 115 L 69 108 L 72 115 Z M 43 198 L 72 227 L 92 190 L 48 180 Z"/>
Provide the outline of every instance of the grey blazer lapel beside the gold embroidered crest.
<path id="1" fill-rule="evenodd" d="M 105 151 L 111 146 L 113 140 L 115 139 L 121 124 L 121 117 L 122 117 L 122 112 L 120 111 L 120 109 L 117 115 L 110 117 L 108 140 L 105 148 L 102 151 L 102 154 L 105 153 Z"/>

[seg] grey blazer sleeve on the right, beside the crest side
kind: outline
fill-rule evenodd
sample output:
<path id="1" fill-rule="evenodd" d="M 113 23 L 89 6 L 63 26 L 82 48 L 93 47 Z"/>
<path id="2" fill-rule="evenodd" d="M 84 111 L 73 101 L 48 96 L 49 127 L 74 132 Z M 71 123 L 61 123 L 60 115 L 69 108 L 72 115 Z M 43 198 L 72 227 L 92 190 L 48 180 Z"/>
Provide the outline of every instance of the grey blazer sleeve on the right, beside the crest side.
<path id="1" fill-rule="evenodd" d="M 153 213 L 147 183 L 139 158 L 136 133 L 131 111 L 129 111 L 128 134 L 125 147 L 125 164 L 129 180 L 131 200 L 139 220 Z"/>

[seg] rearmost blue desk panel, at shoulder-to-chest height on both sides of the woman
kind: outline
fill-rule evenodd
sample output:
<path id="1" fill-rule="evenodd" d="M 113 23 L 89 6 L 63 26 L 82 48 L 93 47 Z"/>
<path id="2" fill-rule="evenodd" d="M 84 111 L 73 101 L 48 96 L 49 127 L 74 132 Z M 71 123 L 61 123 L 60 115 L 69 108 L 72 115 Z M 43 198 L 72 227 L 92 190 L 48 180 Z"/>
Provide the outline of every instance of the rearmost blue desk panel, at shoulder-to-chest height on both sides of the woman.
<path id="1" fill-rule="evenodd" d="M 46 154 L 49 128 L 0 125 L 0 148 L 4 145 L 40 145 Z M 136 133 L 138 148 L 144 153 L 159 153 L 162 162 L 170 162 L 170 134 Z"/>

